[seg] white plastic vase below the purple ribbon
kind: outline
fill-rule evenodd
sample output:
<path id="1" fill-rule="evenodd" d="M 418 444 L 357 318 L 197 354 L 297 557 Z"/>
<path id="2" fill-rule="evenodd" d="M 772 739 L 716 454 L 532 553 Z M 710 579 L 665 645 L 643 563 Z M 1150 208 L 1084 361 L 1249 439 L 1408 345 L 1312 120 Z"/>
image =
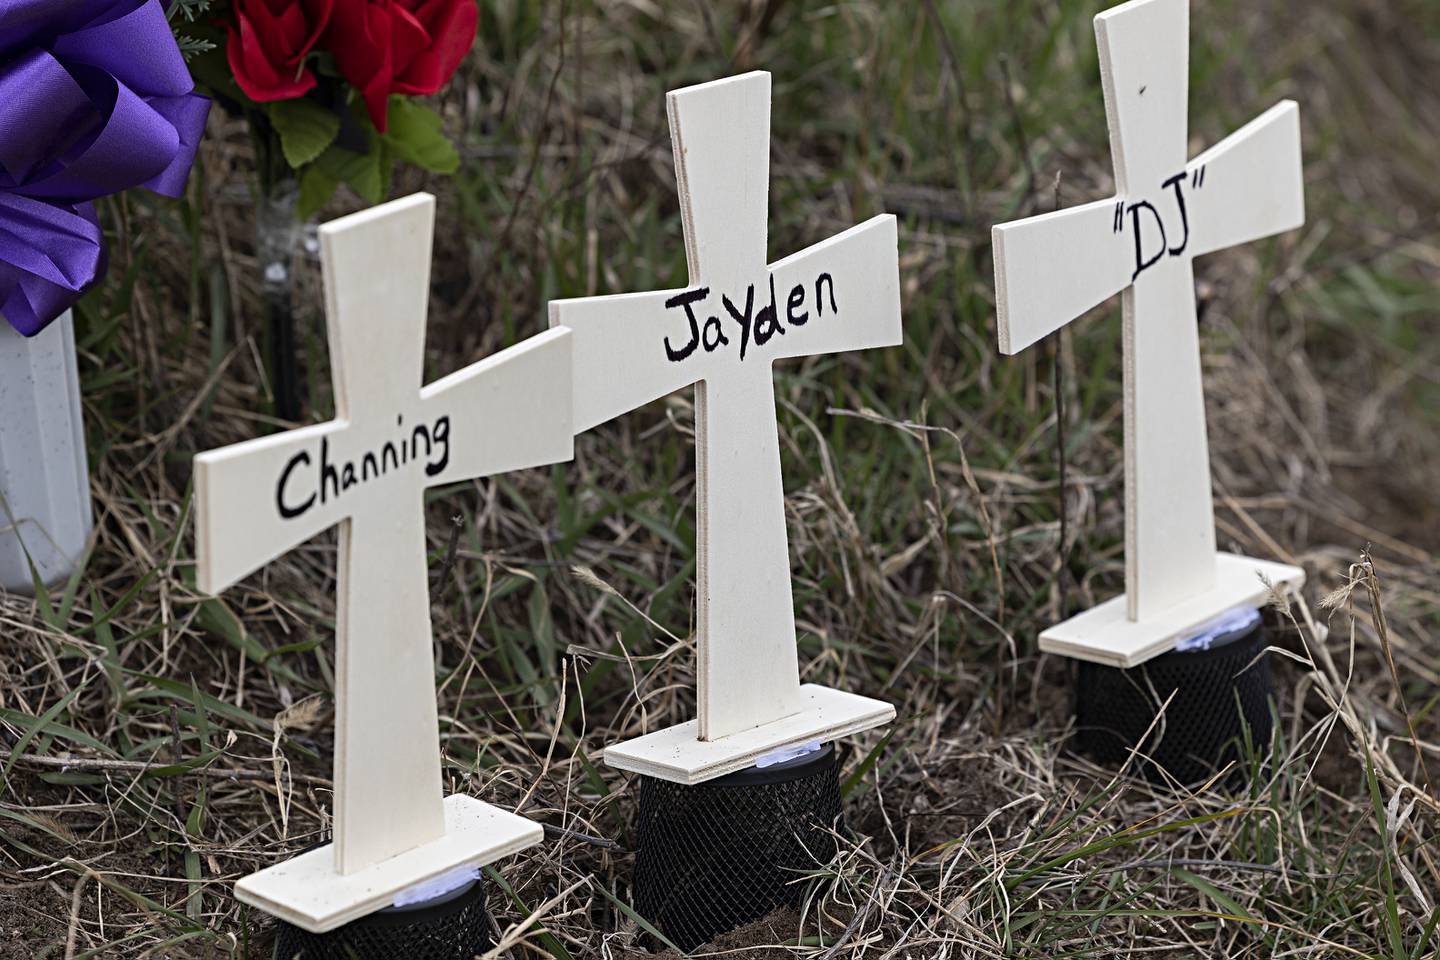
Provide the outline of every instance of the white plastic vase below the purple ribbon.
<path id="1" fill-rule="evenodd" d="M 91 533 L 71 314 L 35 337 L 0 318 L 0 590 L 66 580 Z"/>

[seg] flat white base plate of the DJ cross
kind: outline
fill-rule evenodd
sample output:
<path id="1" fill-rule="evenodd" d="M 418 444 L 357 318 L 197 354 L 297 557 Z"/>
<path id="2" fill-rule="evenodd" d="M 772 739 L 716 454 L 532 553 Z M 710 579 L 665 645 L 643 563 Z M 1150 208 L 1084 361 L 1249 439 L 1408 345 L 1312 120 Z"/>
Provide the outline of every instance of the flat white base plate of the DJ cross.
<path id="1" fill-rule="evenodd" d="M 1205 593 L 1139 622 L 1126 616 L 1123 596 L 1106 600 L 1041 633 L 1040 649 L 1107 666 L 1138 666 L 1225 610 L 1264 603 L 1270 590 L 1261 576 L 1276 587 L 1297 590 L 1305 584 L 1299 567 L 1221 553 L 1215 554 L 1215 586 Z"/>

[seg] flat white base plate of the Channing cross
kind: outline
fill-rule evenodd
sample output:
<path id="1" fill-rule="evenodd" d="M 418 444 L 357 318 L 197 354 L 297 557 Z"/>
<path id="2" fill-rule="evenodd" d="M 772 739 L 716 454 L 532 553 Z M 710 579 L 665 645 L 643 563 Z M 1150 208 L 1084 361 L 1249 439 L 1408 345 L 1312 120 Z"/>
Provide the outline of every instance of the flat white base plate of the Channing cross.
<path id="1" fill-rule="evenodd" d="M 395 902 L 395 895 L 462 866 L 481 866 L 533 843 L 544 830 L 474 797 L 445 797 L 445 836 L 341 877 L 333 843 L 251 874 L 235 898 L 310 933 L 325 933 Z"/>

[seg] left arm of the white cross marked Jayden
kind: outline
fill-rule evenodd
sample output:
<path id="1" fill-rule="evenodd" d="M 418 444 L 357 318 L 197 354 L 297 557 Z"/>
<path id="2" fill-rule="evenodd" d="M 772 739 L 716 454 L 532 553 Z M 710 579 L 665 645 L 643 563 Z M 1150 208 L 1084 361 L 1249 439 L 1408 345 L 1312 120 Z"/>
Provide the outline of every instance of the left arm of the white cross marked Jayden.
<path id="1" fill-rule="evenodd" d="M 690 363 L 664 363 L 667 345 L 681 351 L 688 338 L 684 309 L 665 305 L 683 294 L 550 301 L 550 325 L 572 332 L 576 433 L 704 377 L 700 356 L 687 357 Z"/>

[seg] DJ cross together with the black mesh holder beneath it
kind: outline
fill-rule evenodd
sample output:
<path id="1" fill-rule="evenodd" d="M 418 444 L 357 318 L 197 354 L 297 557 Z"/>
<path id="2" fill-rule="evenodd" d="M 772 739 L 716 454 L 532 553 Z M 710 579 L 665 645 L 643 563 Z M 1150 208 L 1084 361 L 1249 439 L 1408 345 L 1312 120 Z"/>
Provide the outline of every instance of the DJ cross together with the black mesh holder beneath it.
<path id="1" fill-rule="evenodd" d="M 1305 571 L 1217 553 L 1192 261 L 1305 222 L 1299 107 L 1283 101 L 1187 160 L 1189 3 L 1132 0 L 1094 19 L 1117 196 L 994 227 L 1001 353 L 1120 294 L 1125 596 L 1040 635 L 1081 661 L 1081 744 L 1130 756 L 1161 704 L 1153 763 L 1195 780 L 1270 730 L 1257 607 Z M 1143 665 L 1143 666 L 1142 666 Z"/>

